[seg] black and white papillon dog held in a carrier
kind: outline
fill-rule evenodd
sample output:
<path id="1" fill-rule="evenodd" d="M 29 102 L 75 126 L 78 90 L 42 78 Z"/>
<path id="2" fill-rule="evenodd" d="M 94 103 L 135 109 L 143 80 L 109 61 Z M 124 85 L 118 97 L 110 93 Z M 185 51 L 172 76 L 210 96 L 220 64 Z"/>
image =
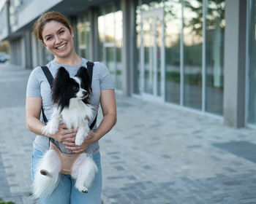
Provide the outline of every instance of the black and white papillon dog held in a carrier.
<path id="1" fill-rule="evenodd" d="M 69 130 L 72 128 L 77 130 L 75 144 L 78 146 L 83 144 L 90 130 L 89 119 L 92 118 L 90 94 L 91 80 L 87 68 L 80 67 L 74 77 L 70 77 L 64 67 L 59 68 L 53 79 L 51 95 L 53 114 L 48 124 L 43 127 L 43 133 L 46 136 L 53 135 L 59 130 L 60 124 L 65 124 Z M 61 159 L 63 155 L 59 149 L 56 150 L 56 146 L 55 149 L 50 148 L 44 154 L 34 176 L 34 197 L 48 197 L 57 187 L 65 160 Z M 91 154 L 85 152 L 78 154 L 73 160 L 70 161 L 72 165 L 70 171 L 72 178 L 76 179 L 75 187 L 80 192 L 86 193 L 97 173 L 97 165 L 92 160 Z"/>

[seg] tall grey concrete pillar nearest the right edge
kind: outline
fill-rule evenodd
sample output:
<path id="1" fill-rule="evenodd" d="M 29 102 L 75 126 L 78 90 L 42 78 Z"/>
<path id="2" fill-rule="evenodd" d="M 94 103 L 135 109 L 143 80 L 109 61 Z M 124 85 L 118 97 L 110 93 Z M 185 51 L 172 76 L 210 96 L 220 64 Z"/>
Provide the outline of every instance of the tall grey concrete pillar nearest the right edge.
<path id="1" fill-rule="evenodd" d="M 224 123 L 245 125 L 246 1 L 226 0 Z"/>

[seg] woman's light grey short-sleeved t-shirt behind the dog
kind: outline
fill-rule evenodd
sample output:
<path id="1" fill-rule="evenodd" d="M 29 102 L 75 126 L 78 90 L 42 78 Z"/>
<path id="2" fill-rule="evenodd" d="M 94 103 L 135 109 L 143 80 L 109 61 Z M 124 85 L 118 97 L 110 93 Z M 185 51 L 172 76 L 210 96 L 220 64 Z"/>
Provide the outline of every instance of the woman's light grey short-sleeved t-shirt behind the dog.
<path id="1" fill-rule="evenodd" d="M 81 62 L 77 66 L 64 66 L 64 68 L 67 69 L 70 76 L 75 76 L 81 66 L 86 67 L 86 63 L 87 60 L 82 58 Z M 48 66 L 50 73 L 53 75 L 53 77 L 55 77 L 56 72 L 63 65 L 56 63 L 55 60 L 52 60 L 46 66 Z M 90 103 L 92 106 L 93 117 L 91 121 L 89 121 L 89 125 L 91 125 L 91 122 L 93 122 L 95 117 L 97 116 L 99 108 L 100 90 L 114 89 L 110 72 L 108 71 L 108 68 L 102 63 L 94 63 L 91 88 L 92 93 Z M 48 80 L 46 79 L 42 68 L 38 66 L 37 68 L 34 68 L 33 71 L 31 71 L 31 74 L 29 76 L 29 81 L 26 89 L 26 97 L 42 98 L 42 107 L 48 120 L 53 113 L 53 102 L 51 101 L 50 95 L 51 90 Z M 41 121 L 43 122 L 42 116 Z M 97 125 L 94 125 L 93 130 L 97 130 Z M 71 153 L 68 149 L 65 149 L 65 146 L 63 144 L 59 143 L 57 144 L 57 146 L 59 146 L 61 152 L 67 154 Z M 37 135 L 34 140 L 34 148 L 39 149 L 42 152 L 46 152 L 49 149 L 49 138 L 46 136 Z M 99 142 L 97 141 L 94 144 L 91 144 L 89 148 L 86 149 L 86 152 L 92 154 L 96 154 L 97 152 L 99 152 Z"/>

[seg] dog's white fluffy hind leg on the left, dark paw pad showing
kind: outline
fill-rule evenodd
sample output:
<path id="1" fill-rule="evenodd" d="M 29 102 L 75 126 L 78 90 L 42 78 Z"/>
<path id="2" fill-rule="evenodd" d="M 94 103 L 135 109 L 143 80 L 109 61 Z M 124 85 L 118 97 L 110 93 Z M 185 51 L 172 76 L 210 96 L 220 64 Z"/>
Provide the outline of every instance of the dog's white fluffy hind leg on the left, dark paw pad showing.
<path id="1" fill-rule="evenodd" d="M 39 161 L 34 175 L 33 197 L 48 197 L 59 184 L 61 160 L 58 154 L 50 149 Z M 44 175 L 43 175 L 44 174 Z"/>

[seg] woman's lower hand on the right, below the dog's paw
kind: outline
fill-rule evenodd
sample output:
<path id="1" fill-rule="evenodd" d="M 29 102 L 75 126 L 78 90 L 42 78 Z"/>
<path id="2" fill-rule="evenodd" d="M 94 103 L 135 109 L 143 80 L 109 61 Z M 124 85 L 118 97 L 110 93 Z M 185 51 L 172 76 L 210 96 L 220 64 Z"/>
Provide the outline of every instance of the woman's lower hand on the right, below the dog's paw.
<path id="1" fill-rule="evenodd" d="M 69 141 L 64 141 L 63 144 L 66 145 L 66 149 L 71 150 L 74 154 L 80 153 L 80 152 L 85 152 L 88 147 L 93 144 L 95 134 L 93 131 L 89 131 L 88 136 L 83 140 L 83 144 L 80 146 L 75 145 L 75 137 L 74 138 L 69 138 Z"/>

